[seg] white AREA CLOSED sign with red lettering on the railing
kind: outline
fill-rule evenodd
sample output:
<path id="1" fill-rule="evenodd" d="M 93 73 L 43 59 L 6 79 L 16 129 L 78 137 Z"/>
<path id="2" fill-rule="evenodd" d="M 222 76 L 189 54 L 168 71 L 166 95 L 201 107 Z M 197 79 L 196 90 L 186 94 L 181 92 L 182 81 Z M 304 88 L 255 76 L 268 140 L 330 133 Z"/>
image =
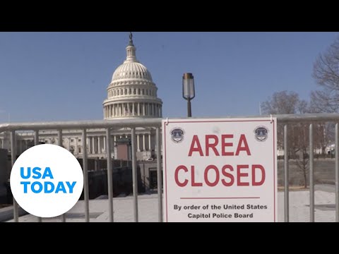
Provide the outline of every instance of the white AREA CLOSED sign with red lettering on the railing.
<path id="1" fill-rule="evenodd" d="M 165 222 L 277 222 L 276 119 L 162 121 Z"/>

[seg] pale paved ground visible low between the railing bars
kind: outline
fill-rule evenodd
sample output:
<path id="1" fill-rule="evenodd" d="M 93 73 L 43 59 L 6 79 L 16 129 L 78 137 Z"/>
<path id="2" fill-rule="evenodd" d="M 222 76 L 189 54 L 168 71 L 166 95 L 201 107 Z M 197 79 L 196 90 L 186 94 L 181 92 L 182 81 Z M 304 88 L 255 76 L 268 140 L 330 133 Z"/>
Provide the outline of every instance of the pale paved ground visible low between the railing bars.
<path id="1" fill-rule="evenodd" d="M 319 189 L 319 188 L 316 188 Z M 335 193 L 315 191 L 315 221 L 335 222 Z M 114 198 L 114 222 L 133 222 L 133 197 Z M 83 200 L 66 214 L 66 222 L 84 222 Z M 138 196 L 139 222 L 157 222 L 157 194 Z M 61 219 L 43 219 L 43 222 L 60 222 Z M 90 222 L 108 222 L 108 200 L 90 200 Z M 278 221 L 284 222 L 284 193 L 278 193 Z M 19 222 L 37 222 L 30 214 L 19 218 Z M 290 191 L 290 222 L 309 222 L 309 191 Z"/>

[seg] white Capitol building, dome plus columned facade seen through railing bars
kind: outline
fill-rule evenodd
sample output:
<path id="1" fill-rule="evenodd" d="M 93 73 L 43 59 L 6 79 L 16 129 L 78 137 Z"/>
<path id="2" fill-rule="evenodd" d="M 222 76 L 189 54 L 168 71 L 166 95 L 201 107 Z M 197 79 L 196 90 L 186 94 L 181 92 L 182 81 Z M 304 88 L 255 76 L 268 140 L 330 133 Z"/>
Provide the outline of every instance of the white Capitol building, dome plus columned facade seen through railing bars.
<path id="1" fill-rule="evenodd" d="M 157 97 L 157 86 L 152 75 L 136 58 L 132 35 L 126 47 L 126 60 L 113 73 L 112 82 L 107 87 L 107 99 L 103 102 L 104 119 L 137 119 L 162 117 L 162 100 Z M 76 157 L 82 157 L 81 130 L 63 131 L 62 145 Z M 17 154 L 32 147 L 34 133 L 16 132 Z M 131 140 L 128 129 L 112 131 L 112 157 L 125 159 L 126 155 L 118 155 L 119 143 Z M 57 131 L 39 131 L 39 142 L 58 144 Z M 105 129 L 89 129 L 87 140 L 89 158 L 106 158 Z M 155 154 L 155 130 L 136 128 L 137 159 L 149 160 Z M 10 149 L 9 133 L 0 133 L 0 148 Z M 121 157 L 122 156 L 122 157 Z M 120 157 L 120 158 L 119 158 Z"/>

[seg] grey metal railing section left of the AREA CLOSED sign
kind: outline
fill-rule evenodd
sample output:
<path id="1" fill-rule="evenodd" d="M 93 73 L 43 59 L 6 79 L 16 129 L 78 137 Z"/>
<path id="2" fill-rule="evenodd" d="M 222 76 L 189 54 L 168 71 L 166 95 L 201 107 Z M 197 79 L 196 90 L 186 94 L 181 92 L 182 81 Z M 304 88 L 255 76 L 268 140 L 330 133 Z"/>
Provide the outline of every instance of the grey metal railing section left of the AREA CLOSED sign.
<path id="1" fill-rule="evenodd" d="M 11 133 L 11 162 L 12 167 L 16 161 L 16 131 L 35 131 L 35 145 L 39 143 L 39 131 L 56 130 L 58 131 L 58 145 L 62 145 L 63 130 L 82 130 L 82 151 L 83 151 L 83 193 L 85 202 L 85 222 L 90 222 L 90 206 L 89 206 L 89 186 L 88 186 L 88 152 L 87 131 L 89 129 L 106 129 L 106 153 L 107 153 L 107 188 L 108 188 L 108 205 L 109 205 L 109 222 L 114 222 L 113 216 L 113 179 L 112 179 L 112 142 L 111 131 L 119 128 L 131 129 L 131 145 L 132 145 L 132 176 L 133 176 L 133 207 L 134 222 L 138 222 L 138 180 L 137 180 L 137 164 L 136 164 L 136 128 L 155 128 L 157 142 L 157 158 L 161 158 L 160 154 L 160 127 L 162 119 L 126 119 L 112 121 L 69 121 L 69 122 L 44 122 L 44 123 L 7 123 L 0 125 L 0 133 L 9 131 Z M 160 159 L 157 159 L 157 175 L 161 177 Z M 159 179 L 159 177 L 158 177 Z M 161 178 L 160 178 L 161 179 Z M 162 207 L 162 182 L 158 181 L 158 207 Z M 162 210 L 159 210 L 162 214 Z M 13 198 L 13 219 L 18 222 L 18 203 Z M 65 222 L 65 214 L 61 216 L 61 221 Z M 40 217 L 37 222 L 42 222 Z M 162 216 L 159 216 L 159 222 L 162 222 Z"/>

